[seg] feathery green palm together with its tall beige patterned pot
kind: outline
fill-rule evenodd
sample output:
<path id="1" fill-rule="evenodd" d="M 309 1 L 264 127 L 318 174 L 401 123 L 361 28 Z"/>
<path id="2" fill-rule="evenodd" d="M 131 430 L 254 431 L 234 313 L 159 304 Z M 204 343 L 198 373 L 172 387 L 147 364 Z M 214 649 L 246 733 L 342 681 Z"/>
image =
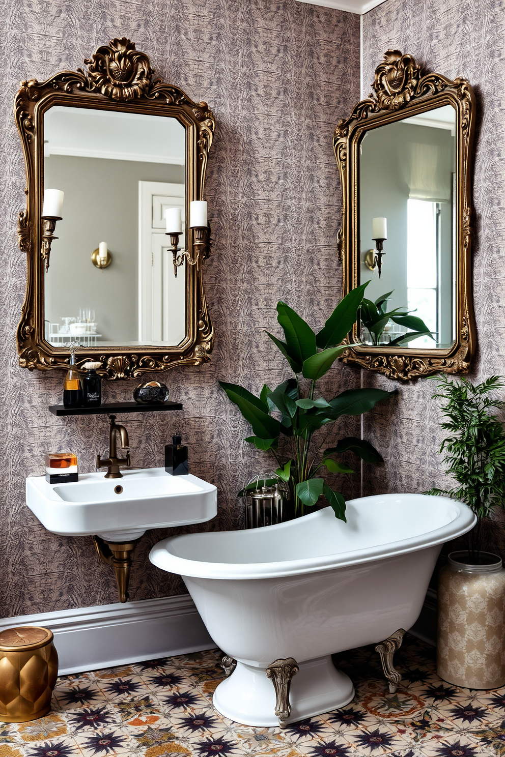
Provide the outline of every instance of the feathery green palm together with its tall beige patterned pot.
<path id="1" fill-rule="evenodd" d="M 453 488 L 433 488 L 466 503 L 476 524 L 466 534 L 466 550 L 450 553 L 438 578 L 438 674 L 472 689 L 505 684 L 505 570 L 500 556 L 485 551 L 485 526 L 505 509 L 505 431 L 497 411 L 505 408 L 493 393 L 503 380 L 480 384 L 467 378 L 438 378 L 433 395 L 444 401 L 441 443 Z"/>

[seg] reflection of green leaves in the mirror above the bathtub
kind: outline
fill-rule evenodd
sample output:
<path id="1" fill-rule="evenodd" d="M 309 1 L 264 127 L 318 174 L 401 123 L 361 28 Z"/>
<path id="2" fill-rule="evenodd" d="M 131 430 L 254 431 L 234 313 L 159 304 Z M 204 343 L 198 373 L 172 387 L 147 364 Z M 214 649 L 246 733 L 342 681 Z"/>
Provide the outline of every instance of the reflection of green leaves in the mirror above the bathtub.
<path id="1" fill-rule="evenodd" d="M 388 342 L 388 347 L 393 347 L 394 344 L 407 344 L 407 342 L 419 336 L 429 336 L 430 339 L 433 339 L 432 332 L 430 332 L 422 318 L 412 315 L 412 313 L 416 312 L 415 310 L 407 310 L 405 306 L 395 307 L 394 310 L 386 310 L 388 299 L 393 292 L 394 289 L 386 292 L 386 294 L 381 294 L 375 302 L 363 298 L 363 302 L 360 305 L 361 324 L 368 329 L 373 346 L 379 346 L 382 332 L 390 319 L 394 323 L 397 323 L 398 326 L 404 326 L 405 329 L 411 329 L 411 331 L 392 339 Z"/>

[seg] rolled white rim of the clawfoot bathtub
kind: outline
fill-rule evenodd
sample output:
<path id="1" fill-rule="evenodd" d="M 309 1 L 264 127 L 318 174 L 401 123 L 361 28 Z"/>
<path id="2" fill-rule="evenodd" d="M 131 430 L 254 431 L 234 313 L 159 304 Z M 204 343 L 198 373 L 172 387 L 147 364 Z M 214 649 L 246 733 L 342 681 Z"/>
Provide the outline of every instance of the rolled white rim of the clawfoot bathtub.
<path id="1" fill-rule="evenodd" d="M 354 500 L 348 500 L 349 503 L 356 503 L 363 500 L 372 500 L 376 498 L 393 498 L 393 497 L 432 497 L 429 494 L 373 494 L 370 497 L 356 497 Z M 179 536 L 167 537 L 164 540 L 154 544 L 151 552 L 149 553 L 150 561 L 161 570 L 175 573 L 176 575 L 188 576 L 191 578 L 215 578 L 217 580 L 238 580 L 238 581 L 253 581 L 261 578 L 282 578 L 293 575 L 303 575 L 305 573 L 317 573 L 323 571 L 329 571 L 338 568 L 347 568 L 351 565 L 360 565 L 365 562 L 373 562 L 380 559 L 388 559 L 389 557 L 396 557 L 405 555 L 412 552 L 418 552 L 420 550 L 428 549 L 429 547 L 436 547 L 439 544 L 444 544 L 446 541 L 450 541 L 457 537 L 466 534 L 477 522 L 475 514 L 463 502 L 459 500 L 451 500 L 449 497 L 436 498 L 445 504 L 456 506 L 459 509 L 457 516 L 449 523 L 434 528 L 432 531 L 425 531 L 423 534 L 418 534 L 414 537 L 410 537 L 401 541 L 388 542 L 386 544 L 379 544 L 377 547 L 366 547 L 361 550 L 350 550 L 344 553 L 333 553 L 329 555 L 321 555 L 315 557 L 306 557 L 301 559 L 290 559 L 276 562 L 204 562 L 197 559 L 189 559 L 187 557 L 179 557 L 170 552 L 170 544 L 184 539 L 187 540 L 192 536 L 199 534 L 181 534 Z M 291 525 L 298 525 L 301 520 L 316 519 L 320 517 L 320 512 L 329 510 L 329 507 L 325 507 L 316 512 L 310 512 L 307 516 L 303 516 L 301 519 L 295 519 L 285 523 L 279 523 L 277 525 L 265 526 L 263 528 L 254 528 L 248 531 L 254 531 L 260 536 L 260 533 L 265 531 L 265 528 L 271 529 L 288 529 Z M 201 532 L 200 532 L 201 533 Z M 229 534 L 230 531 L 207 531 L 205 532 L 209 536 L 211 534 Z M 396 548 L 395 545 L 397 545 Z"/>

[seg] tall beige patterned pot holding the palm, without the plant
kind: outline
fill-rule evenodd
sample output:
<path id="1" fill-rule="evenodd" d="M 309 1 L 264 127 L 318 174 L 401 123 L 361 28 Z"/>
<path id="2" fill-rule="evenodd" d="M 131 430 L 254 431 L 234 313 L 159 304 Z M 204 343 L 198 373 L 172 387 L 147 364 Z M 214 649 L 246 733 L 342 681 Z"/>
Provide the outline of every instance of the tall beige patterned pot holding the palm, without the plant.
<path id="1" fill-rule="evenodd" d="M 438 578 L 437 673 L 469 689 L 505 685 L 505 570 L 497 555 L 453 552 Z"/>

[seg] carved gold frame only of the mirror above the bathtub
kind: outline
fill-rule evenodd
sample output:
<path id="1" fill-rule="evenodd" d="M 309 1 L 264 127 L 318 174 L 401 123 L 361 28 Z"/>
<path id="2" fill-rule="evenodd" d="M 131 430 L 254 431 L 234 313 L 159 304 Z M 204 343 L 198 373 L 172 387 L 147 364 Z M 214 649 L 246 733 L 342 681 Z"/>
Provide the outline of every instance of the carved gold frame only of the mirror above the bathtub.
<path id="1" fill-rule="evenodd" d="M 476 344 L 471 268 L 475 95 L 466 79 L 450 80 L 439 73 L 421 76 L 421 67 L 414 58 L 398 50 L 385 53 L 372 87 L 374 92 L 369 98 L 360 101 L 350 117 L 341 120 L 335 129 L 333 146 L 342 186 L 342 226 L 337 245 L 343 269 L 343 295 L 359 284 L 359 150 L 363 136 L 369 129 L 451 105 L 456 111 L 455 341 L 445 349 L 358 346 L 355 324 L 347 340 L 351 346 L 344 350 L 341 360 L 397 380 L 436 372 L 466 373 Z"/>

